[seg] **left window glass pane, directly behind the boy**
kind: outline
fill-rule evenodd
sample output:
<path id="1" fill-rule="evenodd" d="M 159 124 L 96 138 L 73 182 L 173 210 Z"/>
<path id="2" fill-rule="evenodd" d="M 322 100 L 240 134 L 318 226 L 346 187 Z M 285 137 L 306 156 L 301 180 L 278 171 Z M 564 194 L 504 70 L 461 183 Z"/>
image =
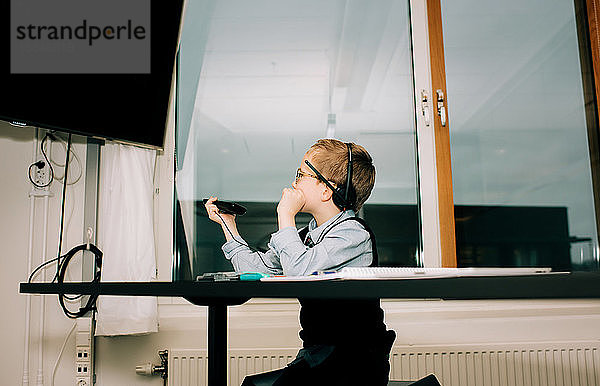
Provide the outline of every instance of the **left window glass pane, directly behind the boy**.
<path id="1" fill-rule="evenodd" d="M 327 133 L 363 145 L 374 159 L 376 184 L 361 215 L 377 234 L 380 264 L 415 265 L 407 2 L 191 0 L 185 17 L 175 277 L 232 269 L 220 249 L 221 229 L 201 202 L 211 195 L 246 206 L 240 233 L 266 248 L 282 189 Z M 300 227 L 309 218 L 296 220 Z"/>

